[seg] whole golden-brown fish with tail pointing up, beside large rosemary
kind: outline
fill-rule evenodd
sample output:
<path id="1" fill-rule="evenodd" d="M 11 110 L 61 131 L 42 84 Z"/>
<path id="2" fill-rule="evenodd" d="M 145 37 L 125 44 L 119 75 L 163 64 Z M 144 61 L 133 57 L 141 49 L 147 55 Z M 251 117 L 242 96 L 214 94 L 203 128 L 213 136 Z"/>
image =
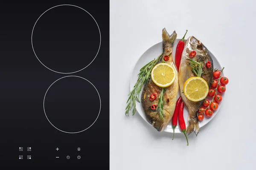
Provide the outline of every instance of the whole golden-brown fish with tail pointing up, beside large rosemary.
<path id="1" fill-rule="evenodd" d="M 175 68 L 176 72 L 176 78 L 172 85 L 166 88 L 165 94 L 164 94 L 164 105 L 163 105 L 163 119 L 160 117 L 160 113 L 157 110 L 152 110 L 151 105 L 157 105 L 158 103 L 158 97 L 162 91 L 162 88 L 154 84 L 152 79 L 150 78 L 148 83 L 145 84 L 142 94 L 141 94 L 141 103 L 142 107 L 145 111 L 146 118 L 150 124 L 157 129 L 157 131 L 161 132 L 163 131 L 170 120 L 172 119 L 175 105 L 177 102 L 177 94 L 179 91 L 179 82 L 178 82 L 178 72 L 177 68 L 175 66 L 175 63 L 172 59 L 172 50 L 174 42 L 177 38 L 177 34 L 174 31 L 172 35 L 169 35 L 165 28 L 163 28 L 162 31 L 162 38 L 163 38 L 163 54 L 162 57 L 160 57 L 160 60 L 158 63 L 162 62 L 163 57 L 165 55 L 169 55 L 169 60 L 166 61 L 166 63 L 172 65 Z M 149 96 L 151 94 L 157 94 L 157 98 L 154 101 L 149 100 Z"/>

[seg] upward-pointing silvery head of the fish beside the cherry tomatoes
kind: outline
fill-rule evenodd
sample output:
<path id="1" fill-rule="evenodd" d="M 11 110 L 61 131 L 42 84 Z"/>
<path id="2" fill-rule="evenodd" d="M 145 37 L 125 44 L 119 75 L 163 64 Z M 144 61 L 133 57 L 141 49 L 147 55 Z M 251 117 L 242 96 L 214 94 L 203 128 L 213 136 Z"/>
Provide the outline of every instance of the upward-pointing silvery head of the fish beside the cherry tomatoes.
<path id="1" fill-rule="evenodd" d="M 184 54 L 186 55 L 186 57 L 188 57 L 189 59 L 193 59 L 193 60 L 198 60 L 198 58 L 200 58 L 201 56 L 205 56 L 208 52 L 207 48 L 204 46 L 204 44 L 199 41 L 198 39 L 196 39 L 194 36 L 190 36 L 187 40 L 186 40 L 186 45 L 184 47 Z M 189 57 L 189 54 L 195 51 L 196 55 L 194 58 Z"/>

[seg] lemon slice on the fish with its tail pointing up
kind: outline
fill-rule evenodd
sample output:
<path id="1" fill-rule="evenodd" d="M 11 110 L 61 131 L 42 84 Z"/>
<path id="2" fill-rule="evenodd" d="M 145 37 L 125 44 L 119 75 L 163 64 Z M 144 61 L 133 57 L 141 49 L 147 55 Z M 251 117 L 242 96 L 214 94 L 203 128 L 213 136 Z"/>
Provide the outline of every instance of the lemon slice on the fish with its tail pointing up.
<path id="1" fill-rule="evenodd" d="M 151 78 L 157 86 L 166 88 L 174 82 L 176 71 L 172 65 L 159 63 L 152 68 Z"/>

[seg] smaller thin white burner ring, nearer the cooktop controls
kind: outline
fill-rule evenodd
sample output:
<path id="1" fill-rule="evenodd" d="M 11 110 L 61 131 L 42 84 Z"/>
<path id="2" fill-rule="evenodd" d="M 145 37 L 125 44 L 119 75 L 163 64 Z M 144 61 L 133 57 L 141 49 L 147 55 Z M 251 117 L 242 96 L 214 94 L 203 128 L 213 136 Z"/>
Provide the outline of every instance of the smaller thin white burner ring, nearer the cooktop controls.
<path id="1" fill-rule="evenodd" d="M 81 78 L 81 79 L 86 80 L 86 81 L 89 82 L 91 85 L 93 85 L 93 83 L 91 83 L 89 80 L 87 80 L 87 79 L 85 79 L 85 78 L 83 78 L 83 77 L 79 77 L 79 76 L 65 76 L 65 77 L 61 77 L 61 78 L 55 80 L 55 82 L 57 82 L 57 81 L 60 80 L 60 79 L 64 79 L 64 78 L 66 78 L 66 77 L 78 77 L 78 78 Z M 51 86 L 52 86 L 55 82 L 53 82 L 53 83 L 49 86 L 49 88 L 51 88 Z M 97 90 L 97 88 L 96 88 L 94 85 L 93 85 L 93 87 L 95 88 L 95 90 L 97 91 L 97 93 L 98 93 L 98 95 L 99 95 L 99 91 Z M 47 89 L 47 91 L 49 90 L 49 88 Z M 45 97 L 46 97 L 47 91 L 45 92 L 45 95 L 44 95 L 44 101 L 45 101 Z M 44 103 L 43 103 L 43 106 L 44 106 Z M 99 96 L 99 113 L 100 113 L 100 111 L 101 111 L 101 99 L 100 99 L 100 96 Z M 98 117 L 99 117 L 99 113 L 98 113 L 98 116 L 96 117 L 95 121 L 93 122 L 93 124 L 97 121 L 97 119 L 98 119 Z M 53 127 L 55 127 L 55 126 L 50 122 L 50 120 L 48 119 L 48 117 L 47 117 L 47 115 L 46 115 L 45 108 L 44 108 L 44 114 L 45 114 L 45 116 L 46 116 L 48 122 L 49 122 Z M 93 124 L 92 124 L 92 125 L 93 125 Z M 83 131 L 89 129 L 92 125 L 90 125 L 90 126 L 87 127 L 86 129 L 80 130 L 80 131 L 78 131 L 78 132 L 66 132 L 66 131 L 64 131 L 64 130 L 58 129 L 57 127 L 55 127 L 55 128 L 56 128 L 57 130 L 61 131 L 61 132 L 64 132 L 64 133 L 80 133 L 80 132 L 83 132 Z"/>

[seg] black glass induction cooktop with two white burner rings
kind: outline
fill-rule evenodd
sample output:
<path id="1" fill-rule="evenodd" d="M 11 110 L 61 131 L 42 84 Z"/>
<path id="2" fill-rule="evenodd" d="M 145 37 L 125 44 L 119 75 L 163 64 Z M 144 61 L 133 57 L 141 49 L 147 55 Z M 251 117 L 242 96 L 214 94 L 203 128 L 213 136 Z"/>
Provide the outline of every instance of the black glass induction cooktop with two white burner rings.
<path id="1" fill-rule="evenodd" d="M 1 167 L 109 169 L 102 2 L 1 3 Z"/>

